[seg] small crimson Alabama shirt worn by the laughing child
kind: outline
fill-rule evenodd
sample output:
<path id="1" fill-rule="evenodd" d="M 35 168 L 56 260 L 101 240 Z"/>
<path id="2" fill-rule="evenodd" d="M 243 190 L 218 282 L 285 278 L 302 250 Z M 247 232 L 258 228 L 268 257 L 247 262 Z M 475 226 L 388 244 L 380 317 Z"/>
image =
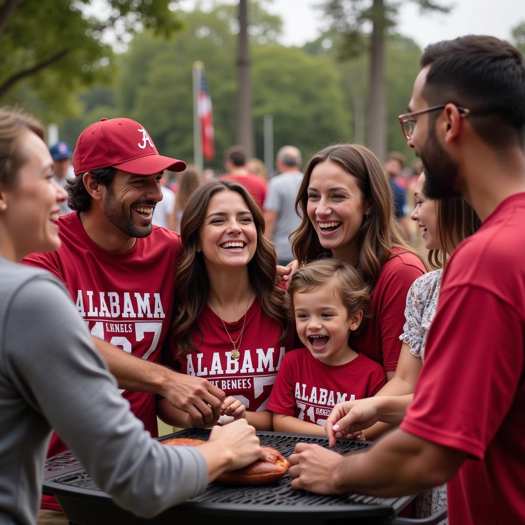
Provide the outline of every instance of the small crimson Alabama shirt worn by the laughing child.
<path id="1" fill-rule="evenodd" d="M 331 366 L 301 348 L 285 355 L 268 410 L 324 426 L 337 403 L 371 397 L 385 382 L 383 367 L 363 354 Z"/>

